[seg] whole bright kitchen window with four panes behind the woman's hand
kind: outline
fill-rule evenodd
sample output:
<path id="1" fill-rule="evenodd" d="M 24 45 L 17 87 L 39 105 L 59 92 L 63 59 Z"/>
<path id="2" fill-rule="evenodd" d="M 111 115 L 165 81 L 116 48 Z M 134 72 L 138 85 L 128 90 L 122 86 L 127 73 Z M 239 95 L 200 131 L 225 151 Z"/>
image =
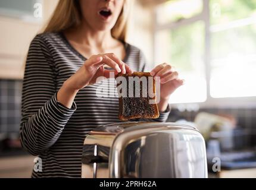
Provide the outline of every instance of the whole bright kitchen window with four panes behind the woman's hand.
<path id="1" fill-rule="evenodd" d="M 154 34 L 154 61 L 186 80 L 170 103 L 256 96 L 255 0 L 167 1 L 155 9 Z"/>

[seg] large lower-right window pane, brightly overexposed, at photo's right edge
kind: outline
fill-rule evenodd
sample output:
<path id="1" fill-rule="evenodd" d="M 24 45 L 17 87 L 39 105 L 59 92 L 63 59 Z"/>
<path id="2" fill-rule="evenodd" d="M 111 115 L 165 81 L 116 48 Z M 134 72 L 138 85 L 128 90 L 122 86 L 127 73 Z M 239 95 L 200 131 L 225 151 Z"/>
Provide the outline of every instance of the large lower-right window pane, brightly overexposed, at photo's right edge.
<path id="1" fill-rule="evenodd" d="M 256 96 L 256 24 L 211 34 L 212 97 Z"/>

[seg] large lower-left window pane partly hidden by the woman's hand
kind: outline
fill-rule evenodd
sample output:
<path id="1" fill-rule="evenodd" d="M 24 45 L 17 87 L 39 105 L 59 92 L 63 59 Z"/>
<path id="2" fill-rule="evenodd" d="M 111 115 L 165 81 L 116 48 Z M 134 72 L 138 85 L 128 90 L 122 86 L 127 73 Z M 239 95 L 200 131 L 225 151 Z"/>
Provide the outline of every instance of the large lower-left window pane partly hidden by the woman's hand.
<path id="1" fill-rule="evenodd" d="M 170 103 L 204 102 L 204 24 L 201 21 L 173 30 L 158 31 L 155 61 L 175 66 L 185 85 L 171 95 Z"/>

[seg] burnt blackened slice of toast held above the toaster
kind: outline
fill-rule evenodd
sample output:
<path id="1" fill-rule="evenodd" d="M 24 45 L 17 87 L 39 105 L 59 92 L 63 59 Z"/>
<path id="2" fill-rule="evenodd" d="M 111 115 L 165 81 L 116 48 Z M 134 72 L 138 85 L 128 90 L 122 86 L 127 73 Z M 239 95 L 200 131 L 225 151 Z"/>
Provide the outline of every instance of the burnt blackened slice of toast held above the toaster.
<path id="1" fill-rule="evenodd" d="M 128 120 L 128 119 L 136 119 L 136 118 L 149 118 L 149 119 L 155 119 L 159 117 L 158 107 L 157 103 L 155 103 L 155 96 L 149 97 L 148 94 L 148 88 L 151 87 L 152 91 L 155 94 L 155 80 L 153 80 L 153 84 L 149 84 L 149 78 L 152 77 L 149 72 L 133 72 L 133 74 L 118 74 L 117 77 L 124 77 L 127 83 L 127 87 L 131 87 L 131 84 L 129 84 L 129 77 L 146 77 L 147 79 L 147 85 L 146 88 L 142 87 L 142 82 L 140 82 L 140 94 L 139 97 L 134 96 L 129 97 L 129 90 L 130 88 L 127 88 L 127 97 L 122 97 L 120 91 L 118 91 L 119 95 L 119 119 L 121 120 Z M 132 82 L 131 82 L 132 83 Z M 117 86 L 123 84 L 118 84 Z M 153 85 L 153 86 L 152 86 Z M 123 90 L 123 86 L 121 87 Z M 133 91 L 135 91 L 135 84 L 133 83 Z M 144 96 L 142 94 L 144 93 Z M 145 96 L 146 93 L 146 96 Z M 150 104 L 149 100 L 153 100 L 154 103 Z"/>

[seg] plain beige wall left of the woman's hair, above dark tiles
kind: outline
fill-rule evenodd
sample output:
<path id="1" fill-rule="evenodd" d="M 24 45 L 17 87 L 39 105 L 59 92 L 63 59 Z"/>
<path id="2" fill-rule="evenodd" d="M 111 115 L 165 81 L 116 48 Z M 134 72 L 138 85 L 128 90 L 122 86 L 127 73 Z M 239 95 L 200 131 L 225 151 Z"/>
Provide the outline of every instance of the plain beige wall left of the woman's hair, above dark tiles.
<path id="1" fill-rule="evenodd" d="M 39 22 L 0 17 L 0 78 L 23 78 L 29 43 L 48 20 L 57 2 L 43 0 L 43 19 Z"/>

